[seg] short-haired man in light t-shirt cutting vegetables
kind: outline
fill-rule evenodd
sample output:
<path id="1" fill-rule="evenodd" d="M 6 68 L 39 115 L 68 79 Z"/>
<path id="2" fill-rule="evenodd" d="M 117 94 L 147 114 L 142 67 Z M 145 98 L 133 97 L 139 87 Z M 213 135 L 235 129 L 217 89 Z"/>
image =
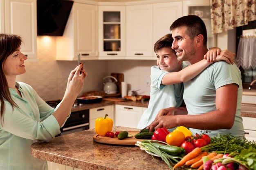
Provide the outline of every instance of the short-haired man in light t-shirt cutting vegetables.
<path id="1" fill-rule="evenodd" d="M 184 16 L 173 22 L 170 30 L 174 39 L 172 49 L 178 60 L 195 64 L 204 58 L 208 51 L 207 31 L 201 18 Z M 186 126 L 193 134 L 209 130 L 211 136 L 231 133 L 243 138 L 242 91 L 241 73 L 235 64 L 213 63 L 184 83 L 183 98 L 188 114 L 184 115 L 182 108 L 162 109 L 148 128 L 152 131 Z"/>

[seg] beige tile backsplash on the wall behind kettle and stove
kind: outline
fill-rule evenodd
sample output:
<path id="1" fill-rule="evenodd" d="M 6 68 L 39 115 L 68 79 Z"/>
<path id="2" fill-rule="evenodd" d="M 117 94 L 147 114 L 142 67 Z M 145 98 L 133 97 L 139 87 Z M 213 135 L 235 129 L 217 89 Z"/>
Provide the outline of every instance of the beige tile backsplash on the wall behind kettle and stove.
<path id="1" fill-rule="evenodd" d="M 64 47 L 63 47 L 64 48 Z M 44 99 L 62 99 L 67 77 L 76 67 L 76 61 L 56 61 L 56 38 L 38 36 L 37 62 L 25 62 L 26 73 L 19 75 L 17 81 L 31 85 Z M 150 67 L 154 60 L 83 60 L 88 76 L 85 78 L 83 92 L 103 91 L 103 78 L 111 73 L 124 73 L 128 90 L 139 90 L 140 95 L 150 93 Z M 81 94 L 82 94 L 81 93 Z"/>

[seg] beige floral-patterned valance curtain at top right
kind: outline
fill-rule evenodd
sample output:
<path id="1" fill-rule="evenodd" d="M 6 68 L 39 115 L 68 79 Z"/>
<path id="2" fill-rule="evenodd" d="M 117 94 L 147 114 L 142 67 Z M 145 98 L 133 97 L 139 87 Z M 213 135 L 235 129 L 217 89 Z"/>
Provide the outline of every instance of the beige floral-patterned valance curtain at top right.
<path id="1" fill-rule="evenodd" d="M 256 0 L 211 0 L 211 32 L 226 32 L 256 20 Z"/>

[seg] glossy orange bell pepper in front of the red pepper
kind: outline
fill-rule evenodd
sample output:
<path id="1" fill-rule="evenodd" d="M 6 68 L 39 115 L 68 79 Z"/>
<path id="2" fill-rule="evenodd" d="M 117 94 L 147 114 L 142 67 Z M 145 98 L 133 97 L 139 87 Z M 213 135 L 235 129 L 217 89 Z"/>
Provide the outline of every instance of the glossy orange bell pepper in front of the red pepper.
<path id="1" fill-rule="evenodd" d="M 166 143 L 172 146 L 180 146 L 184 141 L 185 135 L 180 131 L 171 132 L 166 136 Z"/>

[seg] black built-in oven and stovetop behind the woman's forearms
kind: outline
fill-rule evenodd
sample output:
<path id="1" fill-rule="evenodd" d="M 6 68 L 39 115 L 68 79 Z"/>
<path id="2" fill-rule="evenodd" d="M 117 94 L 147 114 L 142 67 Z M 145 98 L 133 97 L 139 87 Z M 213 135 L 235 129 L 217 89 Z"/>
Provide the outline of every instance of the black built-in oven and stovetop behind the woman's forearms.
<path id="1" fill-rule="evenodd" d="M 61 100 L 52 100 L 47 101 L 46 103 L 52 108 L 56 108 L 56 106 L 61 102 Z M 83 106 L 83 104 L 74 102 L 72 108 L 77 106 Z M 70 117 L 65 122 L 64 126 L 61 128 L 61 133 L 56 136 L 62 136 L 66 134 L 70 134 L 73 132 L 79 132 L 82 130 L 89 129 L 89 109 L 79 110 L 76 112 L 72 112 Z"/>

